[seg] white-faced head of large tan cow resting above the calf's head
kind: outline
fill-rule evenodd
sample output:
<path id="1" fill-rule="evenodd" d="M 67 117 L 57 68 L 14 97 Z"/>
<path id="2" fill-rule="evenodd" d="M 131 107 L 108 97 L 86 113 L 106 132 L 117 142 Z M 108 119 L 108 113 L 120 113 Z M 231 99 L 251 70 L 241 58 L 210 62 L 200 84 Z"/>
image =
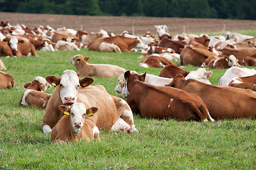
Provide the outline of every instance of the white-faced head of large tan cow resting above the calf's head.
<path id="1" fill-rule="evenodd" d="M 53 86 L 59 86 L 60 99 L 63 104 L 73 104 L 78 99 L 79 87 L 90 86 L 94 79 L 91 77 L 80 79 L 75 71 L 67 69 L 61 77 L 48 76 L 46 81 Z"/>

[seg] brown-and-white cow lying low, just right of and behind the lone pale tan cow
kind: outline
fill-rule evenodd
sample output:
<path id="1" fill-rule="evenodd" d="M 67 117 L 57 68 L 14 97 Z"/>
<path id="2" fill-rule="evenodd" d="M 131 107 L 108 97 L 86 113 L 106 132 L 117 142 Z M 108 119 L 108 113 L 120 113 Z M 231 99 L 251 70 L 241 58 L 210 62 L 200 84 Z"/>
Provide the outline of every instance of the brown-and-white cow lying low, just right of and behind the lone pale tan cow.
<path id="1" fill-rule="evenodd" d="M 146 58 L 146 60 L 142 60 L 142 62 L 139 63 L 139 67 L 165 67 L 168 64 L 178 66 L 178 64 L 175 64 L 174 62 L 171 62 L 164 57 L 151 56 Z"/>

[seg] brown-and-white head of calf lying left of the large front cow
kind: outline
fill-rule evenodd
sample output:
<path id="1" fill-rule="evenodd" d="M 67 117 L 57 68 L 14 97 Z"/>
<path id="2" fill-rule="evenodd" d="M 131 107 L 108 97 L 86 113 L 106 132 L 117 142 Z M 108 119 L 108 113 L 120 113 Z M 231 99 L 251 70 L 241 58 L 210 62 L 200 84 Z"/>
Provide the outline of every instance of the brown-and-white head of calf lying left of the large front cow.
<path id="1" fill-rule="evenodd" d="M 46 91 L 47 89 L 49 89 L 51 87 L 50 84 L 48 84 L 48 82 L 46 81 L 45 78 L 43 77 L 35 77 L 35 79 L 33 79 L 33 81 L 26 83 L 24 85 L 25 89 L 34 89 L 37 91 Z"/>

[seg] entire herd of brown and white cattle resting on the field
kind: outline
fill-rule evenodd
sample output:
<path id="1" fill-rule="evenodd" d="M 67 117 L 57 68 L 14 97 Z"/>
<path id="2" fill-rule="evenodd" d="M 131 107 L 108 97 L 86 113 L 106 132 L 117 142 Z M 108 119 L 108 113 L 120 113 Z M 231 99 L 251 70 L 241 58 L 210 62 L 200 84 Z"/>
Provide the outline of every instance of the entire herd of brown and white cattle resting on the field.
<path id="1" fill-rule="evenodd" d="M 139 67 L 163 67 L 159 76 L 138 74 L 112 64 L 89 64 L 90 57 L 75 55 L 70 63 L 78 74 L 65 70 L 61 77 L 35 77 L 24 85 L 20 104 L 46 110 L 42 130 L 51 132 L 53 142 L 99 140 L 100 130 L 137 132 L 133 113 L 176 120 L 255 119 L 256 70 L 241 67 L 256 65 L 254 37 L 238 33 L 170 35 L 166 26 L 155 27 L 157 38 L 151 33 L 138 37 L 127 31 L 114 35 L 105 30 L 30 29 L 1 22 L 0 56 L 36 56 L 36 50 L 87 47 L 100 52 L 139 51 L 146 59 Z M 174 60 L 201 68 L 186 72 Z M 204 67 L 227 69 L 218 86 L 211 85 L 207 78 L 213 72 Z M 1 60 L 0 69 L 6 69 Z M 118 77 L 115 91 L 124 99 L 108 94 L 102 85 L 90 86 L 92 77 Z M 56 88 L 53 94 L 46 94 L 50 86 Z M 0 89 L 12 87 L 14 79 L 0 71 Z"/>

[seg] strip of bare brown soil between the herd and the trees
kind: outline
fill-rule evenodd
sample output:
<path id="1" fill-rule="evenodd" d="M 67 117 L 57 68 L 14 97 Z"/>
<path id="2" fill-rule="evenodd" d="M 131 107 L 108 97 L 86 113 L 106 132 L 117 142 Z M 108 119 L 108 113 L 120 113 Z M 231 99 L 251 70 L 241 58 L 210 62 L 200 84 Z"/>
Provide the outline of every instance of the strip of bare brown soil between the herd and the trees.
<path id="1" fill-rule="evenodd" d="M 127 30 L 136 35 L 143 35 L 150 31 L 154 35 L 154 25 L 167 25 L 170 33 L 222 32 L 225 30 L 240 30 L 256 28 L 256 21 L 208 19 L 208 18 L 157 18 L 157 17 L 122 17 L 122 16 L 68 16 L 33 13 L 1 13 L 0 21 L 9 21 L 11 25 L 23 23 L 28 28 L 51 26 L 53 28 L 73 28 L 97 32 L 100 29 L 108 33 L 120 34 Z"/>

